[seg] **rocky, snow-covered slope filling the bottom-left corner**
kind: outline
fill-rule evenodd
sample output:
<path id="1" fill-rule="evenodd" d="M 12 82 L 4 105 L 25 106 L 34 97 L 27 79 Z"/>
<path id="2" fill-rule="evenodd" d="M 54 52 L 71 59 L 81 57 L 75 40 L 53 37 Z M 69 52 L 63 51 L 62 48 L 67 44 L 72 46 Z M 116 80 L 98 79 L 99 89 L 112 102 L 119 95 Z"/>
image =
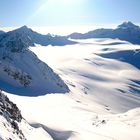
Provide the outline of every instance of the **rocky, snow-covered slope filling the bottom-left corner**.
<path id="1" fill-rule="evenodd" d="M 20 110 L 0 91 L 0 140 L 51 140 L 43 129 L 31 127 L 22 117 Z"/>

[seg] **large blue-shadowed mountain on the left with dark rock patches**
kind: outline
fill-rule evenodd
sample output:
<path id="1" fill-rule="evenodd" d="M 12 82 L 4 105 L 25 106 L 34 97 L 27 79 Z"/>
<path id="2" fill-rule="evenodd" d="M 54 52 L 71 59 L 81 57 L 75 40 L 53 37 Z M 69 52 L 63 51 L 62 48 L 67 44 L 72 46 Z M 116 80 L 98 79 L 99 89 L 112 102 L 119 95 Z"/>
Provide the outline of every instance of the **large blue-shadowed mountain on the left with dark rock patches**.
<path id="1" fill-rule="evenodd" d="M 34 41 L 28 32 L 22 27 L 0 36 L 0 87 L 27 96 L 68 92 L 63 80 L 29 50 Z"/>

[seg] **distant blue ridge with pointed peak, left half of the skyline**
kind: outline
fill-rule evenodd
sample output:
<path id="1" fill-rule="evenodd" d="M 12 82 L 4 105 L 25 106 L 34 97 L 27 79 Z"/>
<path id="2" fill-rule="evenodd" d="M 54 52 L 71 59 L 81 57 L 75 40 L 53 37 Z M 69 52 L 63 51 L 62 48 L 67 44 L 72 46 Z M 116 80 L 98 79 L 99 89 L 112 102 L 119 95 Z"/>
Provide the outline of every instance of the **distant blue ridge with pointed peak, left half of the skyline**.
<path id="1" fill-rule="evenodd" d="M 0 40 L 3 38 L 7 38 L 7 36 L 21 36 L 24 42 L 28 42 L 29 44 L 40 44 L 42 46 L 52 45 L 52 46 L 64 46 L 68 44 L 75 44 L 76 42 L 70 41 L 65 36 L 58 36 L 58 35 L 42 35 L 39 34 L 32 29 L 28 28 L 27 26 L 22 26 L 14 31 L 10 31 L 7 34 L 2 34 L 0 36 Z"/>

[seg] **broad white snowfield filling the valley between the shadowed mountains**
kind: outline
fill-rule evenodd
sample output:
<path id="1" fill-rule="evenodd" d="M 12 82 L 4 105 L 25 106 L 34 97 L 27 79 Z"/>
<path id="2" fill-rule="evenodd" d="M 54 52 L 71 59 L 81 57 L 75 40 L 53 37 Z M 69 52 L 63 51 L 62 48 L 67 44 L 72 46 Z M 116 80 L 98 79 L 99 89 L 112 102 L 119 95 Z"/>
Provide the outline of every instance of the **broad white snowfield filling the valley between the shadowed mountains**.
<path id="1" fill-rule="evenodd" d="M 118 39 L 78 42 L 30 47 L 64 80 L 69 93 L 38 97 L 5 93 L 34 129 L 34 135 L 25 130 L 31 135 L 27 139 L 140 140 L 140 64 L 124 61 L 123 53 L 109 57 L 125 51 L 131 58 L 139 54 L 140 46 Z"/>

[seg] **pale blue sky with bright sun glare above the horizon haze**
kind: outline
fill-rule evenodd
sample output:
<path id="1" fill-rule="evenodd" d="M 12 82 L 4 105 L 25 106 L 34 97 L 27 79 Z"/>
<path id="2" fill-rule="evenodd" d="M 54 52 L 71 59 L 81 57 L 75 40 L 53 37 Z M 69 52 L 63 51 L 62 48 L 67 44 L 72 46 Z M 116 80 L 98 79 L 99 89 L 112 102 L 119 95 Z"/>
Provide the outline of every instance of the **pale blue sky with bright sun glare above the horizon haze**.
<path id="1" fill-rule="evenodd" d="M 140 23 L 140 0 L 0 0 L 0 26 Z"/>

